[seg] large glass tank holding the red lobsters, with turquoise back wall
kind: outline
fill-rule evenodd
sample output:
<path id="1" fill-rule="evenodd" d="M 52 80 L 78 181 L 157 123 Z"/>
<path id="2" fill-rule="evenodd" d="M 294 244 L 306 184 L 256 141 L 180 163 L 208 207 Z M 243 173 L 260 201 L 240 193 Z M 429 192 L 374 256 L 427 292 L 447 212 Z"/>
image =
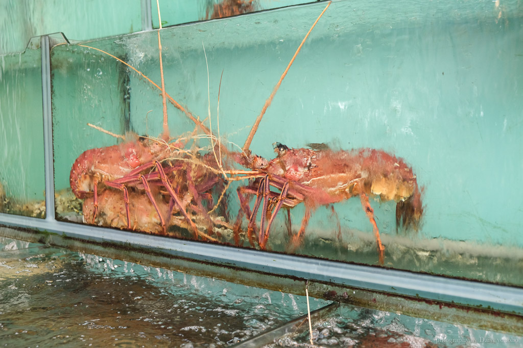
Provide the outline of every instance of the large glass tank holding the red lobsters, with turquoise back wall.
<path id="1" fill-rule="evenodd" d="M 327 6 L 55 46 L 57 218 L 523 285 L 521 7 Z"/>

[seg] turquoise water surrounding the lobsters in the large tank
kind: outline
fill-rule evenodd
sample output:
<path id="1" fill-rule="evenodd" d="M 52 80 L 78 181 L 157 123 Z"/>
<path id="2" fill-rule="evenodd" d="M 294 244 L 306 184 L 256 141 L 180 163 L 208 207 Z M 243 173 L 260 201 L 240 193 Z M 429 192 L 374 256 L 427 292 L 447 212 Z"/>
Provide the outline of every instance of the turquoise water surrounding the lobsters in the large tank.
<path id="1" fill-rule="evenodd" d="M 403 158 L 424 188 L 425 211 L 418 232 L 396 234 L 395 203 L 371 200 L 386 247 L 385 265 L 520 285 L 513 274 L 523 259 L 523 206 L 516 189 L 523 168 L 518 151 L 523 148 L 522 13 L 517 3 L 469 5 L 332 3 L 283 80 L 251 150 L 271 159 L 276 141 L 292 148 L 315 142 Z M 163 30 L 167 92 L 200 119 L 210 109 L 214 134 L 219 121 L 221 141 L 239 151 L 324 7 Z M 156 32 L 87 45 L 119 56 L 160 83 Z M 121 135 L 129 130 L 161 134 L 161 93 L 133 70 L 77 45 L 56 46 L 51 58 L 56 189 L 69 186 L 71 165 L 82 151 L 118 142 L 86 123 Z M 74 98 L 76 93 L 81 97 Z M 194 123 L 185 114 L 169 105 L 168 115 L 172 137 L 194 139 L 188 133 Z M 207 140 L 193 146 L 209 152 Z M 235 182 L 225 191 L 231 224 L 238 211 L 235 188 L 245 184 Z M 213 195 L 217 199 L 220 192 Z M 374 237 L 360 201 L 343 200 L 333 208 L 335 213 L 330 207 L 314 210 L 307 246 L 297 253 L 377 263 L 377 254 L 369 256 Z M 303 204 L 291 209 L 295 232 L 303 214 Z M 243 223 L 245 230 L 245 218 Z M 235 243 L 232 235 L 222 234 L 223 241 Z M 280 213 L 269 249 L 287 251 L 286 235 Z M 242 245 L 248 245 L 246 239 Z M 403 262 L 410 254 L 411 261 Z M 445 266 L 449 259 L 454 266 Z M 504 271 L 506 265 L 516 269 Z"/>

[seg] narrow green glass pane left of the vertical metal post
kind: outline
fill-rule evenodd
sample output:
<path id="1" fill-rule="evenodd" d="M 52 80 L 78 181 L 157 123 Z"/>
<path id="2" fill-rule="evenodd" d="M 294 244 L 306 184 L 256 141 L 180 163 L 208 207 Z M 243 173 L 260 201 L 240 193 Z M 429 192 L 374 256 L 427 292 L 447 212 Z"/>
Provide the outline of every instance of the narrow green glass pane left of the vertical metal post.
<path id="1" fill-rule="evenodd" d="M 0 163 L 0 212 L 44 218 L 40 49 L 0 56 Z"/>

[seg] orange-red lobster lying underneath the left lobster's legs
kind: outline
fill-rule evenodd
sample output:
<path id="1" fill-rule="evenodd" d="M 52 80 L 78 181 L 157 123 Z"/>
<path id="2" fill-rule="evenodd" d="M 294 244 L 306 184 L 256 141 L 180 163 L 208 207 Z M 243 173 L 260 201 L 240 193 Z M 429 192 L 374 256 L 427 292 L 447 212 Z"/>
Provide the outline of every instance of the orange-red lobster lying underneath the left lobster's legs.
<path id="1" fill-rule="evenodd" d="M 162 166 L 165 168 L 164 172 L 167 172 L 168 182 L 173 186 L 184 210 L 180 210 L 174 204 L 175 202 L 170 198 L 168 192 L 162 188 L 161 183 L 150 180 L 150 189 L 154 193 L 156 206 L 149 199 L 143 184 L 135 183 L 126 187 L 129 189 L 127 207 L 125 200 L 122 199 L 121 191 L 112 188 L 104 189 L 101 194 L 98 194 L 97 214 L 95 216 L 94 196 L 86 198 L 83 204 L 84 219 L 93 221 L 96 218 L 96 222 L 100 225 L 119 229 L 131 228 L 152 234 L 166 234 L 167 227 L 170 225 L 191 230 L 188 220 L 183 216 L 183 211 L 186 211 L 191 220 L 196 217 L 197 222 L 200 220 L 211 232 L 214 224 L 228 226 L 224 221 L 214 221 L 209 213 L 215 203 L 213 194 L 223 189 L 223 182 L 214 172 L 202 168 L 204 162 L 209 160 L 208 157 L 204 156 L 200 164 L 184 161 L 187 158 L 170 159 L 162 162 Z M 156 168 L 152 170 L 156 170 Z M 151 175 L 146 174 L 144 176 Z M 155 185 L 160 186 L 155 190 Z M 223 208 L 223 205 L 217 204 L 216 209 L 221 211 Z M 160 213 L 156 209 L 160 210 Z M 195 214 L 190 215 L 190 211 Z M 174 214 L 179 214 L 181 220 L 173 217 Z M 128 226 L 127 218 L 130 220 L 131 226 Z M 162 220 L 162 218 L 164 219 Z M 203 233 L 199 234 L 211 241 L 217 241 L 208 235 L 203 235 Z"/>

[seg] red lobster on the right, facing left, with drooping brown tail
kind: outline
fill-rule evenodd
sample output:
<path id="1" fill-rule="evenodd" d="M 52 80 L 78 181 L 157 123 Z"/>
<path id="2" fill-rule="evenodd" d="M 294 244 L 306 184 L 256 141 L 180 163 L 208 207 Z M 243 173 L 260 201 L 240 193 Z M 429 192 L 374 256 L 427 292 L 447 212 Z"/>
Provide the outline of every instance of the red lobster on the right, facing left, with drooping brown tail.
<path id="1" fill-rule="evenodd" d="M 269 162 L 257 156 L 247 159 L 252 169 L 259 169 L 265 175 L 257 178 L 246 189 L 238 190 L 242 209 L 250 217 L 247 227 L 249 239 L 261 201 L 264 202 L 258 236 L 260 248 L 266 247 L 270 226 L 278 210 L 282 206 L 291 208 L 301 202 L 305 203 L 305 215 L 298 234 L 292 237 L 294 246 L 301 242 L 315 207 L 355 196 L 359 196 L 363 211 L 372 224 L 380 263 L 384 260 L 385 247 L 381 243 L 369 196 L 396 201 L 396 225 L 418 228 L 423 214 L 421 192 L 416 175 L 403 159 L 368 148 L 350 151 L 333 151 L 325 146 L 317 149 L 290 149 L 280 143 L 275 143 L 275 152 L 277 158 Z M 270 191 L 270 186 L 279 189 L 280 193 Z M 242 191 L 257 196 L 252 213 L 248 211 Z M 274 212 L 265 227 L 269 203 L 274 206 Z"/>

